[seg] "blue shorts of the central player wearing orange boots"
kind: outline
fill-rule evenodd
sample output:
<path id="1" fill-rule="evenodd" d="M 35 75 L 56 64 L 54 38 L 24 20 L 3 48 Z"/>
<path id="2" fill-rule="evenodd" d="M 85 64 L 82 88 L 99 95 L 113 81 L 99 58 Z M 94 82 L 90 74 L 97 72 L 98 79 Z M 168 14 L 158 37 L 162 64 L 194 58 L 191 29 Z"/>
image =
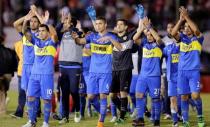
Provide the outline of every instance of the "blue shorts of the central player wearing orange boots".
<path id="1" fill-rule="evenodd" d="M 112 74 L 89 73 L 87 94 L 108 94 L 112 83 Z"/>

